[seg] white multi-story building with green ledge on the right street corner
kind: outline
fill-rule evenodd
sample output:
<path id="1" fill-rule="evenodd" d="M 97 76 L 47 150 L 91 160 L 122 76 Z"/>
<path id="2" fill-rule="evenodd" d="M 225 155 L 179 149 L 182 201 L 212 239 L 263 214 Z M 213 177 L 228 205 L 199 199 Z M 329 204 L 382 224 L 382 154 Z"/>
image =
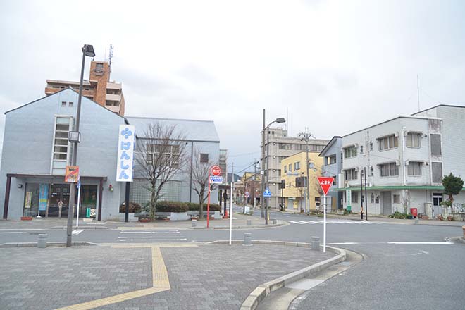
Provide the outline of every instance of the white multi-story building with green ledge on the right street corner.
<path id="1" fill-rule="evenodd" d="M 368 214 L 416 208 L 437 216 L 447 199 L 442 176 L 465 177 L 464 119 L 465 106 L 439 105 L 343 136 L 338 190 L 345 191 L 344 208 L 360 211 L 365 170 Z M 454 198 L 465 202 L 465 192 Z"/>

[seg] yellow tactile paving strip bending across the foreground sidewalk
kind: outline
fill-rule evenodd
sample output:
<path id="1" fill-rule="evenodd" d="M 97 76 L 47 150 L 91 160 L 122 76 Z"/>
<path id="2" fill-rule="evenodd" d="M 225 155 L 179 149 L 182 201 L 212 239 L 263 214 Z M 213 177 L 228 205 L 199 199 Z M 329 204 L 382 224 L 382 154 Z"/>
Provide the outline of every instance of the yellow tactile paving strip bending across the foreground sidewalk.
<path id="1" fill-rule="evenodd" d="M 167 244 L 168 247 L 175 246 L 176 244 Z M 196 244 L 193 244 L 197 247 Z M 161 254 L 160 247 L 149 244 L 140 244 L 129 245 L 121 244 L 115 245 L 116 248 L 134 248 L 134 247 L 150 247 L 151 248 L 151 274 L 152 274 L 152 285 L 153 287 L 146 288 L 144 290 L 137 290 L 133 292 L 127 292 L 124 294 L 118 294 L 115 296 L 105 297 L 97 300 L 92 300 L 90 302 L 82 302 L 82 304 L 73 304 L 71 306 L 65 306 L 56 310 L 89 310 L 94 309 L 99 306 L 106 306 L 109 304 L 116 304 L 118 302 L 125 302 L 126 300 L 135 299 L 139 297 L 144 297 L 150 294 L 155 294 L 158 292 L 164 292 L 166 290 L 171 290 L 170 280 L 168 278 L 168 270 L 166 269 L 165 261 L 163 260 L 163 255 Z"/>

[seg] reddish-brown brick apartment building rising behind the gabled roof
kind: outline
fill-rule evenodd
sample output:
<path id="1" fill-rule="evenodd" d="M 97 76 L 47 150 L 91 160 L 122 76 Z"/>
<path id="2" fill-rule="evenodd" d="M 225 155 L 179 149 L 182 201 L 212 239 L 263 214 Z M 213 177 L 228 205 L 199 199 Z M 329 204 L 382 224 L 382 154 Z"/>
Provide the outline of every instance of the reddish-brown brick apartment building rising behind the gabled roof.
<path id="1" fill-rule="evenodd" d="M 110 81 L 111 66 L 107 61 L 90 63 L 89 80 L 82 83 L 82 96 L 87 97 L 106 109 L 124 116 L 125 100 L 121 83 Z M 45 94 L 55 94 L 67 87 L 79 91 L 79 81 L 46 80 Z"/>

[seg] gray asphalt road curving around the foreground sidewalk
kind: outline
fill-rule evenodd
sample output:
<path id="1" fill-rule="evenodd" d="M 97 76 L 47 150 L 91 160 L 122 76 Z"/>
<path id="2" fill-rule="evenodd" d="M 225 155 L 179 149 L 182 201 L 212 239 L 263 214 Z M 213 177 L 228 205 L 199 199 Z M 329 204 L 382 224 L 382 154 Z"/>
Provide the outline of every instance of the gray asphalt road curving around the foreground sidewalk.
<path id="1" fill-rule="evenodd" d="M 233 239 L 242 239 L 247 232 L 256 240 L 323 238 L 322 218 L 279 212 L 271 217 L 290 225 L 234 230 Z M 359 252 L 364 261 L 304 293 L 306 298 L 293 309 L 465 309 L 465 245 L 444 242 L 445 237 L 461 235 L 460 227 L 328 218 L 327 230 L 328 244 Z M 49 241 L 66 240 L 64 230 L 13 230 L 0 232 L 0 243 L 36 242 L 38 233 L 47 233 Z M 228 237 L 228 230 L 82 230 L 73 240 L 206 242 Z"/>

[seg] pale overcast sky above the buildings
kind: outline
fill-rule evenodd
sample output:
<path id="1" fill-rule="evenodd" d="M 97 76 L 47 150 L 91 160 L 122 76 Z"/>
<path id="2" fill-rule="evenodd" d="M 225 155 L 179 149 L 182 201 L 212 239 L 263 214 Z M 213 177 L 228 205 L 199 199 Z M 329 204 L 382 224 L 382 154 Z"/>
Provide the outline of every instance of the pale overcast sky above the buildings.
<path id="1" fill-rule="evenodd" d="M 418 111 L 417 74 L 421 109 L 465 105 L 464 16 L 460 0 L 1 1 L 0 136 L 46 79 L 79 80 L 83 44 L 96 60 L 113 44 L 127 116 L 214 120 L 240 170 L 262 109 L 330 139 Z"/>

